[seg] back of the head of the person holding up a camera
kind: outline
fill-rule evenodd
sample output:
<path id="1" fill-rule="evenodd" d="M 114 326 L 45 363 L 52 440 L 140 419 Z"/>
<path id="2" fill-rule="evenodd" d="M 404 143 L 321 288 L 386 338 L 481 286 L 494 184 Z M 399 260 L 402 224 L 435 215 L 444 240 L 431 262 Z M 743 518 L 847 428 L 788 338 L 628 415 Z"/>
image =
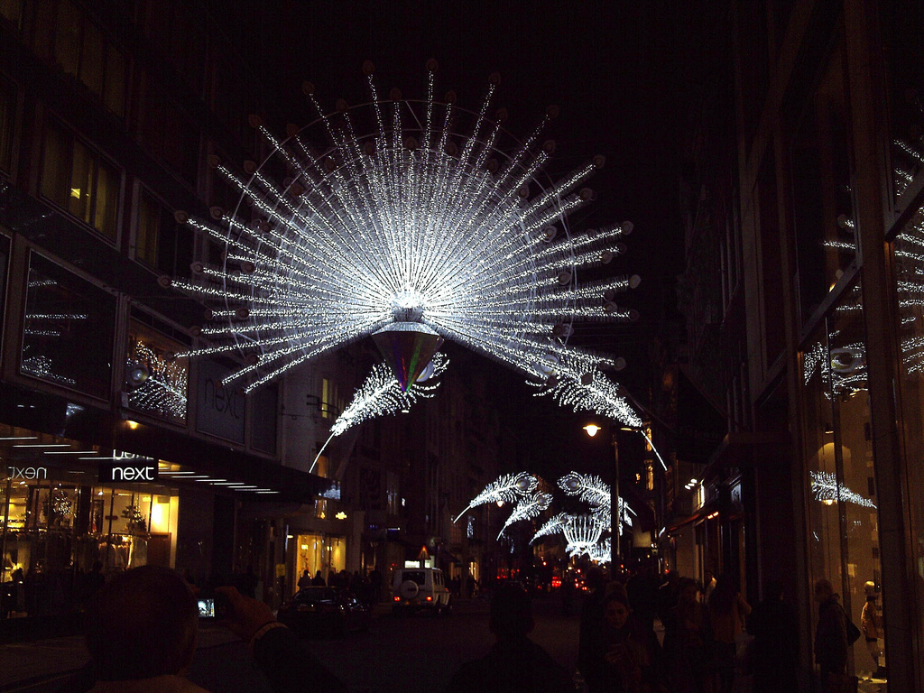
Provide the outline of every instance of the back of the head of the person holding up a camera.
<path id="1" fill-rule="evenodd" d="M 143 565 L 113 578 L 88 611 L 87 649 L 98 679 L 182 674 L 196 649 L 199 609 L 174 571 Z"/>

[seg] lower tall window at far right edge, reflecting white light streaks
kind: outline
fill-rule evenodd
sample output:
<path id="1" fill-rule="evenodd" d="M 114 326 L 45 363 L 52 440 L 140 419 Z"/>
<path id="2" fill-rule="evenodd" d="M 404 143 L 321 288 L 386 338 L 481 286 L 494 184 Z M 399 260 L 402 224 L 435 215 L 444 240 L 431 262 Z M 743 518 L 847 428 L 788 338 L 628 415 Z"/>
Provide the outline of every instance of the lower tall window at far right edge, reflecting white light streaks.
<path id="1" fill-rule="evenodd" d="M 899 321 L 898 379 L 908 494 L 909 565 L 918 614 L 924 614 L 924 207 L 918 209 L 892 244 Z M 924 662 L 924 619 L 917 621 L 918 662 Z"/>

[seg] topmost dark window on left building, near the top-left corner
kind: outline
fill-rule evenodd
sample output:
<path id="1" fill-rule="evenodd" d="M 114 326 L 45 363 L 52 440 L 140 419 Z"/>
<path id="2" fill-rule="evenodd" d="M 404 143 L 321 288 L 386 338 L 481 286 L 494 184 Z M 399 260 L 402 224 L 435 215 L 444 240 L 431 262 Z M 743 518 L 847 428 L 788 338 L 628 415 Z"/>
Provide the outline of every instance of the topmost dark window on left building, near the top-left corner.
<path id="1" fill-rule="evenodd" d="M 125 55 L 70 2 L 58 6 L 55 62 L 103 99 L 116 116 L 125 116 Z"/>

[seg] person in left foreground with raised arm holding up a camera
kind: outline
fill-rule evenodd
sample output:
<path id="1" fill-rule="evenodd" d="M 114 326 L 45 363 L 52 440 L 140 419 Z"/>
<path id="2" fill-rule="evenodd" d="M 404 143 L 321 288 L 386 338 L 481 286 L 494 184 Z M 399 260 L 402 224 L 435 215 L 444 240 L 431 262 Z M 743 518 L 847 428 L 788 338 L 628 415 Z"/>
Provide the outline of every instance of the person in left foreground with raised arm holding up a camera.
<path id="1" fill-rule="evenodd" d="M 274 691 L 346 691 L 266 604 L 233 587 L 215 593 L 225 612 L 218 623 L 249 642 Z M 91 603 L 86 630 L 90 662 L 61 690 L 209 693 L 185 677 L 196 650 L 199 616 L 196 595 L 175 571 L 156 565 L 127 570 Z"/>

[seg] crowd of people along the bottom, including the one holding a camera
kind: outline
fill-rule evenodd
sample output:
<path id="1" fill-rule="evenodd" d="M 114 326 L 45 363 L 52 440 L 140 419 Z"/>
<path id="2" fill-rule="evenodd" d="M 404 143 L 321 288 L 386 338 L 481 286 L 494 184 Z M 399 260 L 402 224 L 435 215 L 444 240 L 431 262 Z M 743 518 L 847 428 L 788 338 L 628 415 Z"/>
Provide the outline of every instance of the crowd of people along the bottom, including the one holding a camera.
<path id="1" fill-rule="evenodd" d="M 346 574 L 334 580 L 343 577 L 348 586 Z M 500 586 L 491 596 L 490 626 L 496 642 L 484 657 L 463 664 L 449 679 L 445 693 L 574 693 L 575 681 L 581 680 L 589 693 L 731 693 L 736 673 L 742 670 L 752 674 L 754 693 L 798 690 L 798 625 L 782 585 L 766 585 L 765 598 L 752 609 L 735 577 L 715 578 L 708 573 L 705 577 L 698 582 L 671 572 L 661 579 L 649 570 L 624 584 L 608 581 L 601 570 L 591 569 L 580 603 L 577 663 L 571 671 L 529 638 L 535 622 L 528 590 L 518 583 Z M 317 584 L 320 578 L 306 570 L 299 586 Z M 317 684 L 310 689 L 346 690 L 276 621 L 269 606 L 235 586 L 215 591 L 229 607 L 223 625 L 249 642 L 254 661 L 273 690 L 305 690 L 308 670 Z M 574 595 L 571 590 L 561 594 L 567 613 L 568 598 Z M 829 581 L 816 583 L 815 598 L 819 619 L 814 654 L 821 689 L 839 691 L 851 624 Z M 868 604 L 862 632 L 868 645 L 873 643 L 869 650 L 875 658 L 874 640 L 881 625 L 874 592 Z M 91 661 L 65 689 L 203 692 L 183 676 L 195 651 L 196 588 L 175 571 L 157 566 L 128 570 L 100 586 L 87 614 Z M 657 623 L 663 626 L 663 638 L 658 637 Z"/>

